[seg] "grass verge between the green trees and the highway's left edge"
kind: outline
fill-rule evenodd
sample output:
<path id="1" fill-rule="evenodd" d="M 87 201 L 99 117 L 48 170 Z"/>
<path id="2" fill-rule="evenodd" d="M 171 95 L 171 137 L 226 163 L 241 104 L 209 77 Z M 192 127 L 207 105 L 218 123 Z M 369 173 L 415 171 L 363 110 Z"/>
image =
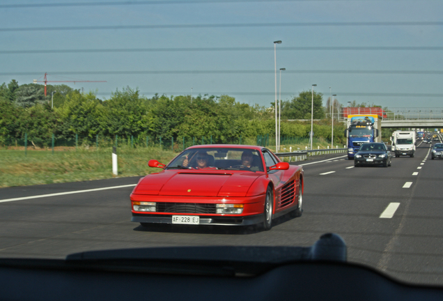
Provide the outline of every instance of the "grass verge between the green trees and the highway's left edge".
<path id="1" fill-rule="evenodd" d="M 0 187 L 67 183 L 114 178 L 112 148 L 90 151 L 0 151 Z M 143 176 L 159 171 L 150 159 L 168 163 L 176 153 L 160 148 L 118 148 L 118 177 Z"/>

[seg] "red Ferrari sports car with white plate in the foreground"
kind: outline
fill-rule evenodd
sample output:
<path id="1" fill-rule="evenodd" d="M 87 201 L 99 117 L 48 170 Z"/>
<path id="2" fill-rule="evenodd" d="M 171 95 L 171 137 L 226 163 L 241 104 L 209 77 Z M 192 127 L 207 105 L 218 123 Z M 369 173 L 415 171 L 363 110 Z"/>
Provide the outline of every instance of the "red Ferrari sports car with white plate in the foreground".
<path id="1" fill-rule="evenodd" d="M 139 180 L 132 222 L 246 226 L 302 215 L 303 169 L 261 146 L 192 146 Z"/>

